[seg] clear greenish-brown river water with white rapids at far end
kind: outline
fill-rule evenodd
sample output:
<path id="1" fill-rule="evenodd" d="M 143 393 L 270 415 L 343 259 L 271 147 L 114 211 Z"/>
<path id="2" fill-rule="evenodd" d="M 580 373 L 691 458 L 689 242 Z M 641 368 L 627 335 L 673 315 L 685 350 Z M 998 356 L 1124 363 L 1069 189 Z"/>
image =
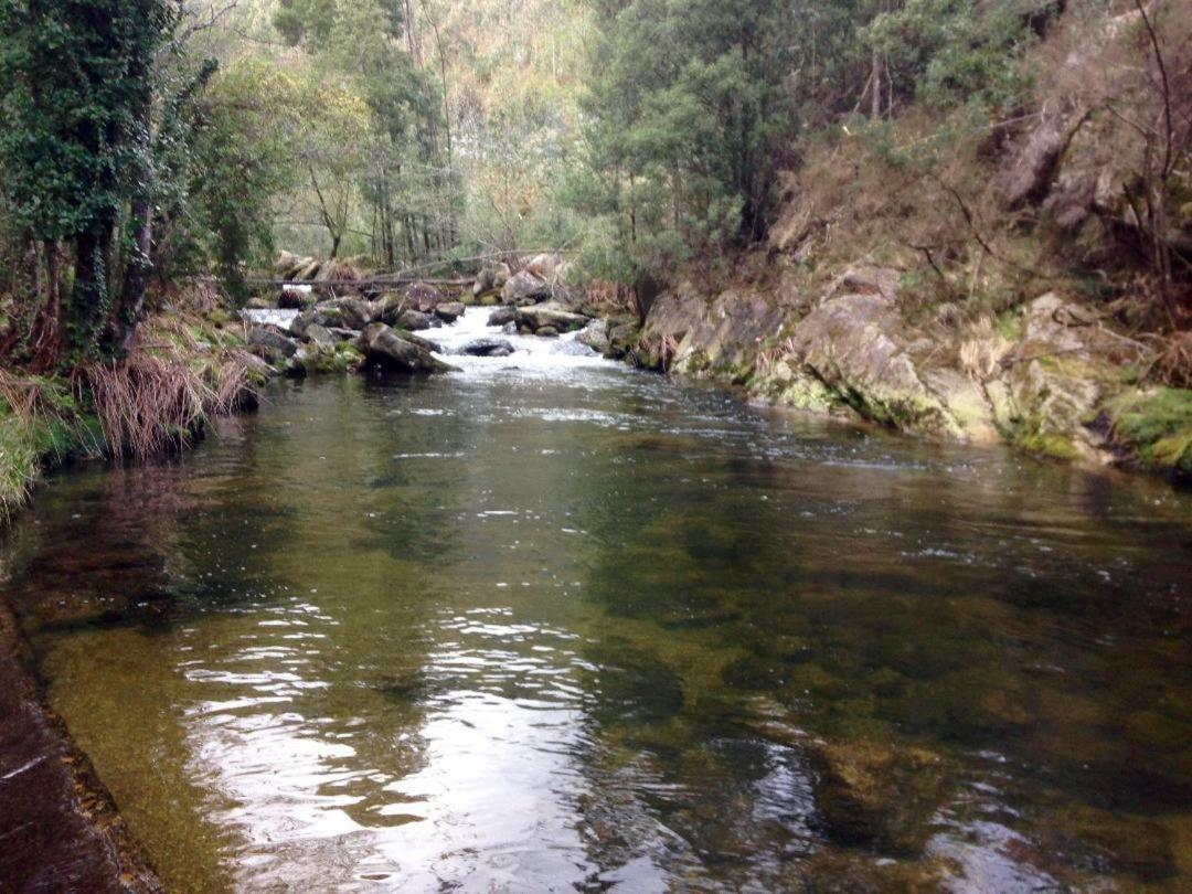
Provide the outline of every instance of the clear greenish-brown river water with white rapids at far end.
<path id="1" fill-rule="evenodd" d="M 172 890 L 1188 889 L 1188 495 L 514 342 L 8 536 Z"/>

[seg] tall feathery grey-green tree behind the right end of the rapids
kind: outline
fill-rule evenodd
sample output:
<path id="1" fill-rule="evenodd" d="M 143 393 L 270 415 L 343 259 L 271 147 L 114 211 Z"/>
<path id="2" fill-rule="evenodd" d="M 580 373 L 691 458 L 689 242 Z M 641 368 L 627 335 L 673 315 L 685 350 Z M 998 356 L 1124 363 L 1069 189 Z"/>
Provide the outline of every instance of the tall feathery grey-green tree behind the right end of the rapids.
<path id="1" fill-rule="evenodd" d="M 597 213 L 641 273 L 760 237 L 776 150 L 795 130 L 791 5 L 602 5 L 585 137 Z"/>

